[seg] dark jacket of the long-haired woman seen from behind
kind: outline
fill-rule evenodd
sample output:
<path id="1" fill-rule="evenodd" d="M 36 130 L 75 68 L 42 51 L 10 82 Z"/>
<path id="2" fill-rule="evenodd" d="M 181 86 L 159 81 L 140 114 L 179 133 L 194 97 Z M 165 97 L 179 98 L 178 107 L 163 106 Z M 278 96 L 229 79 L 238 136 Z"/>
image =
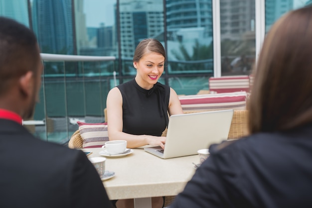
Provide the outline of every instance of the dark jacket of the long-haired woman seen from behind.
<path id="1" fill-rule="evenodd" d="M 311 208 L 312 124 L 210 147 L 170 208 Z"/>

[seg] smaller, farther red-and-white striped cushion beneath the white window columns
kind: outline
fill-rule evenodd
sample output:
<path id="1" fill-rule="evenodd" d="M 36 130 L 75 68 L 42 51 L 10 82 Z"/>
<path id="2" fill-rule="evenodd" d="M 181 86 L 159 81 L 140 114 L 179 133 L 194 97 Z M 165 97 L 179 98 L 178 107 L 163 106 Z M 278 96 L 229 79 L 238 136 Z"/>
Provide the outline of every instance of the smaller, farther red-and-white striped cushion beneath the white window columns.
<path id="1" fill-rule="evenodd" d="M 249 76 L 223 76 L 209 78 L 210 93 L 249 92 Z"/>

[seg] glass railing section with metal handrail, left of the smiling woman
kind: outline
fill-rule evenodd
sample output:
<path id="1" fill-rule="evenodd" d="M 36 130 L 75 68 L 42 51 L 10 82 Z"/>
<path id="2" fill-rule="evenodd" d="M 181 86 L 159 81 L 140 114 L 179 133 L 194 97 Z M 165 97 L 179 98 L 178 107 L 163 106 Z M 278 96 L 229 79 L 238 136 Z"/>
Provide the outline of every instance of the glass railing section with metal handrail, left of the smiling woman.
<path id="1" fill-rule="evenodd" d="M 103 122 L 108 91 L 116 86 L 116 58 L 41 54 L 40 101 L 23 125 L 42 140 L 67 144 L 77 121 Z"/>

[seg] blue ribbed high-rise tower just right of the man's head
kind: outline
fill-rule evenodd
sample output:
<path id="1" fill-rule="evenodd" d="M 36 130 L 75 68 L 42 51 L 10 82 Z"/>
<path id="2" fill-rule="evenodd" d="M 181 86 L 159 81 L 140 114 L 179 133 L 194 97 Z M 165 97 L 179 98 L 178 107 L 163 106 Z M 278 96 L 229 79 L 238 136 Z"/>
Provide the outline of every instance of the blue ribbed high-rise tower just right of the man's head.
<path id="1" fill-rule="evenodd" d="M 43 53 L 74 54 L 71 0 L 33 0 L 33 30 Z"/>

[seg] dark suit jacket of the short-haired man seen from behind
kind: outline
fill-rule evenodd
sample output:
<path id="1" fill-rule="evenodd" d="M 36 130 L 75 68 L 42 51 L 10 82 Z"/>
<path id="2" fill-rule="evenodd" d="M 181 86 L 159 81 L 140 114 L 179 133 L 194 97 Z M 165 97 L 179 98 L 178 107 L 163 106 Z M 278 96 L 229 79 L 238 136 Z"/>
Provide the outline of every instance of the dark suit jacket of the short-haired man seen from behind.
<path id="1" fill-rule="evenodd" d="M 103 183 L 81 150 L 35 138 L 0 119 L 1 208 L 111 208 Z"/>

